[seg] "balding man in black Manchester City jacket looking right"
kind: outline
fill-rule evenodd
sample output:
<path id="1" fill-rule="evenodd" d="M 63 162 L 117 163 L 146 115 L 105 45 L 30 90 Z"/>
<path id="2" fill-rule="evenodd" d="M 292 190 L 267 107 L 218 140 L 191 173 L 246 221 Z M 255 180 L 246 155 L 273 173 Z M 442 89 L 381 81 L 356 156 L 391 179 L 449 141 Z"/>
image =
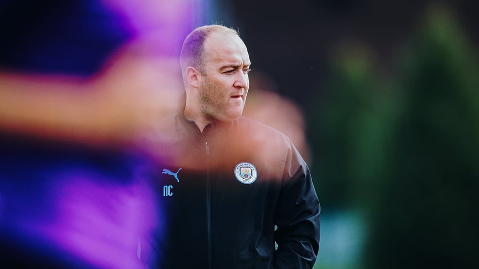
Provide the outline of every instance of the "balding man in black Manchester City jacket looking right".
<path id="1" fill-rule="evenodd" d="M 164 221 L 156 266 L 312 268 L 318 197 L 291 140 L 241 116 L 251 62 L 238 33 L 196 28 L 180 62 L 186 92 L 153 148 Z"/>

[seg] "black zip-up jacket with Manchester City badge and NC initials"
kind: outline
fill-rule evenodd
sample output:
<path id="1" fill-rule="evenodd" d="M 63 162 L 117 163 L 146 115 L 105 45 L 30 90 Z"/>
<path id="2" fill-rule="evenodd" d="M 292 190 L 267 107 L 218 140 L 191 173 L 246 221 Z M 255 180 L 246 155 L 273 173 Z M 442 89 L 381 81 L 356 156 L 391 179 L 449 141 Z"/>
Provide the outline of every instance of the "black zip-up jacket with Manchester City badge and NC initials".
<path id="1" fill-rule="evenodd" d="M 200 132 L 184 107 L 161 122 L 152 147 L 163 221 L 156 267 L 312 268 L 320 207 L 291 140 L 245 117 Z"/>

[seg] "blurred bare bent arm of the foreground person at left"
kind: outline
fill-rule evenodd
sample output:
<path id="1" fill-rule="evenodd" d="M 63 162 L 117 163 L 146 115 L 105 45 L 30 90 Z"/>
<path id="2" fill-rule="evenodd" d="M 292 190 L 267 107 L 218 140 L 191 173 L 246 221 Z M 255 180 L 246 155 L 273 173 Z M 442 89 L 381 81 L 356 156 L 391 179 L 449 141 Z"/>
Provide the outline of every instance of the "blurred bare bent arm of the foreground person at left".
<path id="1" fill-rule="evenodd" d="M 174 111 L 183 86 L 176 65 L 127 48 L 86 79 L 0 71 L 0 129 L 88 143 L 133 140 Z"/>

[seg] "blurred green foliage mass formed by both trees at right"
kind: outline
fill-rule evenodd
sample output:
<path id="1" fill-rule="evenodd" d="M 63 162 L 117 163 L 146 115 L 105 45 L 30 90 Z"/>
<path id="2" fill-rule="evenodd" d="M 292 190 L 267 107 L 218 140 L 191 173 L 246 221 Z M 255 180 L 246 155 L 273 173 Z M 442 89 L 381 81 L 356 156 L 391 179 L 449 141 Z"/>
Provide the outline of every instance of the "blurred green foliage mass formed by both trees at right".
<path id="1" fill-rule="evenodd" d="M 310 129 L 323 212 L 365 216 L 358 268 L 476 268 L 478 55 L 441 7 L 403 49 L 390 73 L 338 53 Z"/>

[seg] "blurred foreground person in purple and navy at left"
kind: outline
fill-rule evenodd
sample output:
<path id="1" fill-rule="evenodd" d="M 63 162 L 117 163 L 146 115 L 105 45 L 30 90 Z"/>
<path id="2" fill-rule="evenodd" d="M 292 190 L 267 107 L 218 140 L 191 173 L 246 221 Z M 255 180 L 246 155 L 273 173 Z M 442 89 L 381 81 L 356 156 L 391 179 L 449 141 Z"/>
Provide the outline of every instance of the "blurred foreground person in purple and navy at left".
<path id="1" fill-rule="evenodd" d="M 163 215 L 128 144 L 177 98 L 174 57 L 100 1 L 0 15 L 0 267 L 144 268 Z"/>

